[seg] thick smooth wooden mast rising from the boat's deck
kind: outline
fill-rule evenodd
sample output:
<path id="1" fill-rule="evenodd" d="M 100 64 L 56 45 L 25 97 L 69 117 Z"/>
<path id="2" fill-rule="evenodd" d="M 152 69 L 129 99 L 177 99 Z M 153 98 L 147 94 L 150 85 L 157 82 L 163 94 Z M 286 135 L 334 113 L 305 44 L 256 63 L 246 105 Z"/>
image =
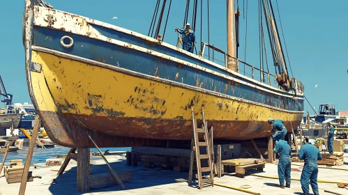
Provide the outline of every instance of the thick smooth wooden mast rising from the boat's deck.
<path id="1" fill-rule="evenodd" d="M 227 0 L 227 54 L 236 57 L 236 31 L 234 31 L 234 0 Z M 228 58 L 227 68 L 236 71 L 236 61 Z"/>

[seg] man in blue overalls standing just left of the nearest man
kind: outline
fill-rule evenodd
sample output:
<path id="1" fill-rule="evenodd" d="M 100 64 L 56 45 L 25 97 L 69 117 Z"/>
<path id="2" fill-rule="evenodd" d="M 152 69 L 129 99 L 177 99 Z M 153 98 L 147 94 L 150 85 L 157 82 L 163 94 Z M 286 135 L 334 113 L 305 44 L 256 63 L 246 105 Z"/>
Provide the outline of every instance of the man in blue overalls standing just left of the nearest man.
<path id="1" fill-rule="evenodd" d="M 279 162 L 278 162 L 278 178 L 279 183 L 278 187 L 284 189 L 285 187 L 290 187 L 292 172 L 292 160 L 290 159 L 290 146 L 283 139 L 275 140 L 276 147 L 273 149 L 274 153 L 279 153 Z M 284 187 L 284 179 L 286 185 Z"/>

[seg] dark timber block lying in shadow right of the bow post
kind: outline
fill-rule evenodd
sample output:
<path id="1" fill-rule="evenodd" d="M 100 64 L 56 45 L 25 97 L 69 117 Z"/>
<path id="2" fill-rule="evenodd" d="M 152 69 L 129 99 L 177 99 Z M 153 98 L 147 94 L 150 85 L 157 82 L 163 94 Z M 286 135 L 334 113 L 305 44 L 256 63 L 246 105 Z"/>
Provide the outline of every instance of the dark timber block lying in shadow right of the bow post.
<path id="1" fill-rule="evenodd" d="M 132 173 L 129 171 L 119 171 L 116 172 L 121 181 L 131 180 Z M 110 183 L 117 182 L 114 176 L 111 173 L 98 173 L 89 176 L 89 186 L 94 187 L 98 185 L 107 185 Z"/>

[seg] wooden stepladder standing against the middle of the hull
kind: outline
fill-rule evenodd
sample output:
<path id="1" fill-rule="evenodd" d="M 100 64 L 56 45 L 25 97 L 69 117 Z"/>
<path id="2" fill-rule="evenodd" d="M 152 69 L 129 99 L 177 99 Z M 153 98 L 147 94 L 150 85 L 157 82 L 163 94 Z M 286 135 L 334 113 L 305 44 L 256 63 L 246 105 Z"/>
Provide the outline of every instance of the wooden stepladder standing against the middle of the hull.
<path id="1" fill-rule="evenodd" d="M 208 138 L 208 125 L 204 119 L 204 109 L 202 107 L 202 119 L 203 119 L 203 128 L 197 127 L 197 120 L 195 119 L 195 113 L 192 108 L 192 123 L 193 123 L 193 136 L 191 141 L 191 159 L 190 159 L 190 172 L 189 172 L 189 185 L 192 183 L 192 169 L 193 169 L 193 161 L 194 161 L 194 155 L 193 152 L 195 151 L 195 157 L 196 157 L 196 163 L 197 163 L 197 178 L 198 178 L 198 185 L 199 189 L 202 189 L 203 183 L 210 183 L 212 186 L 214 186 L 214 178 L 213 178 L 213 165 L 211 162 L 211 144 L 209 143 Z M 203 135 L 204 141 L 199 141 L 199 134 Z M 206 147 L 206 154 L 200 153 L 200 147 Z M 202 167 L 201 166 L 201 159 L 208 160 L 209 166 Z M 202 173 L 209 172 L 209 178 L 202 178 Z"/>

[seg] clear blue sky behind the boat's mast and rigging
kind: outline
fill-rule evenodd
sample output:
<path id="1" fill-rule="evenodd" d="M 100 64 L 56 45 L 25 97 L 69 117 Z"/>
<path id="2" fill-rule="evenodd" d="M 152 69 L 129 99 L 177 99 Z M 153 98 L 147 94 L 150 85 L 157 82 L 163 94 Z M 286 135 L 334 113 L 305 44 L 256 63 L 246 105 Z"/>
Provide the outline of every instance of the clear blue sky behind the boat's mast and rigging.
<path id="1" fill-rule="evenodd" d="M 57 10 L 91 17 L 95 20 L 147 35 L 157 1 L 50 0 L 46 2 Z M 281 32 L 276 10 L 277 4 L 275 0 L 272 0 L 272 2 L 278 28 Z M 204 42 L 208 42 L 206 4 L 207 1 L 203 0 L 202 41 Z M 315 107 L 317 111 L 319 104 L 335 104 L 337 110 L 348 110 L 347 98 L 345 97 L 345 95 L 348 95 L 346 90 L 348 76 L 348 1 L 279 0 L 278 6 L 293 75 L 305 84 L 305 96 L 312 107 Z M 165 42 L 176 45 L 177 35 L 174 29 L 183 26 L 185 9 L 186 0 L 172 1 L 165 32 Z M 192 3 L 190 10 L 192 11 Z M 199 10 L 200 7 L 198 8 L 197 27 L 195 29 L 197 42 L 201 40 Z M 257 1 L 239 0 L 239 10 L 241 10 L 239 59 L 258 67 L 259 22 Z M 6 91 L 13 94 L 13 102 L 20 103 L 31 102 L 24 70 L 23 12 L 24 0 L 1 2 L 0 75 Z M 164 17 L 166 17 L 166 14 Z M 117 17 L 117 19 L 113 19 L 113 17 Z M 189 16 L 189 22 L 192 22 L 192 13 Z M 164 30 L 164 24 L 165 19 L 162 22 L 161 33 Z M 211 0 L 209 2 L 209 26 L 210 43 L 227 52 L 225 0 Z M 246 50 L 245 32 L 247 32 Z M 267 44 L 269 45 L 268 42 L 266 42 Z M 282 44 L 284 48 L 284 42 Z M 271 55 L 269 48 L 267 52 L 268 55 Z M 269 56 L 268 61 L 271 61 Z M 268 67 L 271 71 L 274 71 L 271 63 L 268 64 Z M 315 87 L 316 85 L 317 87 Z M 310 114 L 314 114 L 307 101 L 305 101 L 305 109 L 309 109 Z"/>

